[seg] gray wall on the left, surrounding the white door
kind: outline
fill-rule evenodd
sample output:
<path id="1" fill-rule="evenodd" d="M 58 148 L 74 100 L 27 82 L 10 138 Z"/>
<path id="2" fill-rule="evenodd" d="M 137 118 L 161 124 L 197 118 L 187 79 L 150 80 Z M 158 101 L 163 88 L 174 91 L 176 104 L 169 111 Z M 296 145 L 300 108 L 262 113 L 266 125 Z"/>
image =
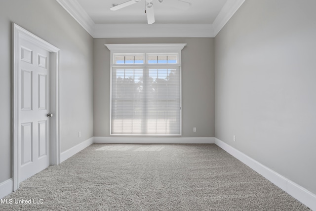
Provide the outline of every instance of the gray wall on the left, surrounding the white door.
<path id="1" fill-rule="evenodd" d="M 60 48 L 61 151 L 93 136 L 93 38 L 55 0 L 1 0 L 0 183 L 12 176 L 12 22 Z"/>

